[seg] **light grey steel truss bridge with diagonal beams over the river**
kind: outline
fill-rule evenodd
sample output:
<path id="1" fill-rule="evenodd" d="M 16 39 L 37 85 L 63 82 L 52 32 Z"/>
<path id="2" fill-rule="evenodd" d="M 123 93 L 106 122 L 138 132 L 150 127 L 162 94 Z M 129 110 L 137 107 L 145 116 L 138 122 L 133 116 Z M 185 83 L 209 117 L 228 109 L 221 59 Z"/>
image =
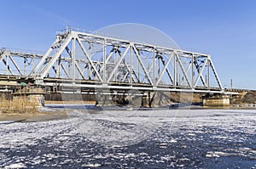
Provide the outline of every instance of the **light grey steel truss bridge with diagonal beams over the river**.
<path id="1" fill-rule="evenodd" d="M 45 54 L 0 51 L 0 85 L 96 90 L 224 93 L 208 54 L 163 48 L 67 28 Z"/>

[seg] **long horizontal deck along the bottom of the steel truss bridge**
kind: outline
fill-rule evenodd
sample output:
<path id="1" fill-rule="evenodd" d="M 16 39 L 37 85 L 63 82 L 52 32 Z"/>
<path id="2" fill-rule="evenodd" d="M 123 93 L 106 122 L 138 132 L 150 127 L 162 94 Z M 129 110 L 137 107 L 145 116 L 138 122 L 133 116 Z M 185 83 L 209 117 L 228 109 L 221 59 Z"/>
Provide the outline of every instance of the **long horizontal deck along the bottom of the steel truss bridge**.
<path id="1" fill-rule="evenodd" d="M 0 75 L 0 88 L 14 88 L 20 87 L 20 82 L 34 82 L 35 80 L 31 77 L 26 76 L 9 76 Z M 16 82 L 16 83 L 14 83 Z M 138 90 L 138 91 L 161 91 L 161 92 L 192 92 L 192 93 L 224 93 L 219 90 L 218 87 L 186 87 L 186 86 L 172 86 L 172 85 L 158 85 L 152 86 L 147 83 L 130 83 L 127 82 L 109 82 L 108 86 L 98 81 L 88 80 L 76 80 L 73 82 L 70 79 L 62 78 L 44 78 L 44 84 L 42 87 L 60 87 L 63 92 L 80 89 L 81 91 L 92 90 Z"/>

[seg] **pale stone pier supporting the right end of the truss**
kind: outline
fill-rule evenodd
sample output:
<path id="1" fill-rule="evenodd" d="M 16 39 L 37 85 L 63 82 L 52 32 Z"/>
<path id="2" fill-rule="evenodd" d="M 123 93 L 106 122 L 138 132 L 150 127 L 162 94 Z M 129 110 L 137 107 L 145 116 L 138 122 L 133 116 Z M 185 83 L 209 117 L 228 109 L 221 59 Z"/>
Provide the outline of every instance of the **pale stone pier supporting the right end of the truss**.
<path id="1" fill-rule="evenodd" d="M 203 106 L 223 107 L 230 106 L 230 96 L 224 94 L 207 94 L 202 97 Z"/>

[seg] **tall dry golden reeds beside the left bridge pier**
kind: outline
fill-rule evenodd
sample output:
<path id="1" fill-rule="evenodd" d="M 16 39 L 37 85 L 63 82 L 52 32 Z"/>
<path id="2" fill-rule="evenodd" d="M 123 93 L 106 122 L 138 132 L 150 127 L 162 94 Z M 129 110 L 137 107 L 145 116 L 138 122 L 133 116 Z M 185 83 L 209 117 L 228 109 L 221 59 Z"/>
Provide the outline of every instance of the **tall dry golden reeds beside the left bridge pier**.
<path id="1" fill-rule="evenodd" d="M 34 114 L 39 112 L 37 106 L 26 97 L 9 100 L 2 96 L 0 99 L 0 113 L 3 114 Z"/>

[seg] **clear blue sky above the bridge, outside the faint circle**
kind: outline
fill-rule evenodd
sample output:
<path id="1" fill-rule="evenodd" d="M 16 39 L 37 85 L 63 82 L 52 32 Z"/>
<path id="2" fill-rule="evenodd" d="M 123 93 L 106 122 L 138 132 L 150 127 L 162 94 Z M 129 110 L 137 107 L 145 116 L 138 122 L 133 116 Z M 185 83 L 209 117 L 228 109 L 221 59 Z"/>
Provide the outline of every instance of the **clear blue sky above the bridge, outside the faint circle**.
<path id="1" fill-rule="evenodd" d="M 0 47 L 46 51 L 67 25 L 151 25 L 182 49 L 210 54 L 224 87 L 256 89 L 256 1 L 0 0 Z"/>

